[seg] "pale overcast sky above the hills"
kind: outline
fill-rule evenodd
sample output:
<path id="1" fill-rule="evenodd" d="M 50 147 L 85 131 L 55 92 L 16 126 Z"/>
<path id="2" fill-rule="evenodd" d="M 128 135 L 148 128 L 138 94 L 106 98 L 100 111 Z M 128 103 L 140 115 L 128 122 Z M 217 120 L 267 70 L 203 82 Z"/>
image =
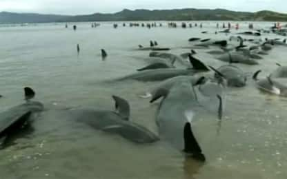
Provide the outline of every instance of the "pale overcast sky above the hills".
<path id="1" fill-rule="evenodd" d="M 0 12 L 39 12 L 46 14 L 92 14 L 118 12 L 124 8 L 226 8 L 250 11 L 274 10 L 287 13 L 287 0 L 0 0 Z"/>

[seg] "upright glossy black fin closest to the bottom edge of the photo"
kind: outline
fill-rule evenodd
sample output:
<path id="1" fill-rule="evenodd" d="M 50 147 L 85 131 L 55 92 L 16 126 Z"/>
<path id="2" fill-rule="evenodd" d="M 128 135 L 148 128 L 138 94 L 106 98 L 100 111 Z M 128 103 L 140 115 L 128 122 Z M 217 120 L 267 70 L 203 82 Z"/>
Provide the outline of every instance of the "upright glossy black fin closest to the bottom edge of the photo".
<path id="1" fill-rule="evenodd" d="M 192 133 L 190 123 L 186 123 L 184 126 L 184 152 L 186 154 L 192 154 L 192 158 L 196 160 L 205 161 L 206 158 L 201 152 L 201 148 Z"/>

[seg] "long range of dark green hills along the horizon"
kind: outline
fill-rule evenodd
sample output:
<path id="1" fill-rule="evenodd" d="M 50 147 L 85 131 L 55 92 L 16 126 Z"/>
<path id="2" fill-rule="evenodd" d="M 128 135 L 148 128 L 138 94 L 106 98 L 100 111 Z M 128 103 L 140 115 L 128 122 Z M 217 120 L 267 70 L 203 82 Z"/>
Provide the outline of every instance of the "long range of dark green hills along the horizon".
<path id="1" fill-rule="evenodd" d="M 122 10 L 113 14 L 88 14 L 63 16 L 54 14 L 18 14 L 0 12 L 0 23 L 45 23 L 78 21 L 287 21 L 287 14 L 260 11 L 236 12 L 224 9 L 177 9 L 177 10 Z"/>

